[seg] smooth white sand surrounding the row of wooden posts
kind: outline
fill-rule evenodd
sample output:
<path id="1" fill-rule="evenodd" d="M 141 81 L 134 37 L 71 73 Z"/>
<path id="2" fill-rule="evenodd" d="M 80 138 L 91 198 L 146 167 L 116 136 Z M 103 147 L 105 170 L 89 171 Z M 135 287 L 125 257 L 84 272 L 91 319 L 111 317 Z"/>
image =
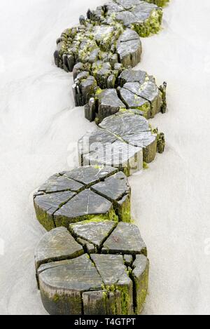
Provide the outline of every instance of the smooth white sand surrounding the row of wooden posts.
<path id="1" fill-rule="evenodd" d="M 76 166 L 73 143 L 94 128 L 74 108 L 71 74 L 53 65 L 52 53 L 63 29 L 104 3 L 1 1 L 0 314 L 45 314 L 33 260 L 44 230 L 32 194 Z M 210 313 L 209 15 L 209 0 L 172 0 L 162 32 L 142 41 L 139 67 L 168 82 L 169 107 L 152 120 L 166 134 L 165 154 L 130 178 L 151 260 L 145 314 Z"/>

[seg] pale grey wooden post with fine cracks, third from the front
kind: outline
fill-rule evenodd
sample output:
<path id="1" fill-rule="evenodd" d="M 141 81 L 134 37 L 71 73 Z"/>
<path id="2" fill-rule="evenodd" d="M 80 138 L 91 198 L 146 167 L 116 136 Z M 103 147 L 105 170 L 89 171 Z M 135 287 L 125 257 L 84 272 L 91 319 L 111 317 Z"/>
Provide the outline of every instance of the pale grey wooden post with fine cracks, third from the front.
<path id="1" fill-rule="evenodd" d="M 108 116 L 78 142 L 82 166 L 113 166 L 130 176 L 165 148 L 165 135 L 149 126 L 138 109 L 121 109 Z"/>

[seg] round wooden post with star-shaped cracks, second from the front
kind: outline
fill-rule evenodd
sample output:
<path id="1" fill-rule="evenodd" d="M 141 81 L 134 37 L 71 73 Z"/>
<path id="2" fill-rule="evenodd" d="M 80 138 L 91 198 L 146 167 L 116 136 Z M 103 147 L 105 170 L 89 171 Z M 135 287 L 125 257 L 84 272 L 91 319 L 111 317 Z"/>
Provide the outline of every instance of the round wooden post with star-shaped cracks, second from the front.
<path id="1" fill-rule="evenodd" d="M 82 220 L 130 222 L 130 195 L 118 169 L 84 166 L 50 177 L 34 194 L 34 207 L 48 231 Z"/>

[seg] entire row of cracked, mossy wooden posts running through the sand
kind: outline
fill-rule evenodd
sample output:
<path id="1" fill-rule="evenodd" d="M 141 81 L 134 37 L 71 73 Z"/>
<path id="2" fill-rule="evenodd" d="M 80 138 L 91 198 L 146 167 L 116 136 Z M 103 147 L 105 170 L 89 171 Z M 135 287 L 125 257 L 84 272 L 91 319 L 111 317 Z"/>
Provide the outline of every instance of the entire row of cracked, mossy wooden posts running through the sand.
<path id="1" fill-rule="evenodd" d="M 153 76 L 131 67 L 141 60 L 139 36 L 159 31 L 158 6 L 167 2 L 114 0 L 57 39 L 55 64 L 73 71 L 76 106 L 85 105 L 85 118 L 99 126 L 78 142 L 83 167 L 53 175 L 34 194 L 36 216 L 51 229 L 35 253 L 50 314 L 139 314 L 144 305 L 147 250 L 129 223 L 125 174 L 164 151 L 164 134 L 146 119 L 165 113 L 166 83 L 158 88 Z"/>

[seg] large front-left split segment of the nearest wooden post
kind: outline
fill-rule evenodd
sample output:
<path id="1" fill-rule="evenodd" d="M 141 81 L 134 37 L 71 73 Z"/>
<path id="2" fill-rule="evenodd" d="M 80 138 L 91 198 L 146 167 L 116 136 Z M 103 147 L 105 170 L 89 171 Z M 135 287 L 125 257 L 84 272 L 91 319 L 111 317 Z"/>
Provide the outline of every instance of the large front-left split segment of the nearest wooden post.
<path id="1" fill-rule="evenodd" d="M 102 278 L 86 255 L 51 264 L 39 274 L 39 286 L 43 306 L 49 314 L 83 314 L 81 293 L 90 289 L 101 289 Z"/>

